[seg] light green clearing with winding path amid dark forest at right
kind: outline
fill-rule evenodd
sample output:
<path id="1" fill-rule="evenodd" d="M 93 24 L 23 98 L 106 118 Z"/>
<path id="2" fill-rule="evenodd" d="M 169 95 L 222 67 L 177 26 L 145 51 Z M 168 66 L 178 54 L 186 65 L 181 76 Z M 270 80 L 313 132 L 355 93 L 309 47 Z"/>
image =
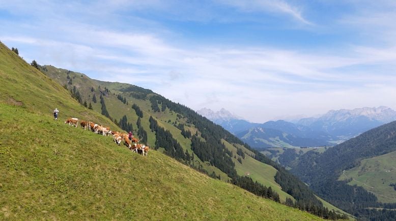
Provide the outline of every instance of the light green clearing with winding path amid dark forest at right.
<path id="1" fill-rule="evenodd" d="M 345 170 L 340 180 L 352 178 L 349 185 L 357 185 L 375 194 L 380 202 L 396 202 L 396 191 L 390 183 L 396 183 L 396 151 L 378 157 L 364 159 L 360 165 Z"/>

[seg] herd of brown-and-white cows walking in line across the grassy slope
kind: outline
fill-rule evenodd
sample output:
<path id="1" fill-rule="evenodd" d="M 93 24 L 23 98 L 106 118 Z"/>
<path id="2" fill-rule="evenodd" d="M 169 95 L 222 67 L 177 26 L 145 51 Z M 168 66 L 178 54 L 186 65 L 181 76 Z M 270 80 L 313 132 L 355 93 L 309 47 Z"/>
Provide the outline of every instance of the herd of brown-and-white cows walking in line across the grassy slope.
<path id="1" fill-rule="evenodd" d="M 69 124 L 70 126 L 77 127 L 78 119 L 77 118 L 69 118 L 65 121 L 65 124 Z M 118 131 L 111 131 L 110 127 L 103 127 L 102 125 L 97 125 L 90 121 L 81 121 L 80 125 L 84 130 L 89 129 L 90 131 L 95 132 L 96 134 L 102 134 L 103 136 L 107 136 L 107 135 L 111 134 L 114 142 L 117 143 L 118 145 L 120 145 L 121 141 L 124 140 L 124 143 L 126 146 L 128 146 L 129 150 L 136 152 L 136 153 L 142 152 L 143 156 L 145 156 L 145 154 L 146 154 L 146 157 L 147 157 L 147 153 L 150 150 L 149 146 L 138 143 L 139 140 L 136 139 L 135 137 L 132 137 L 132 139 L 130 140 L 128 134 L 121 133 Z"/>

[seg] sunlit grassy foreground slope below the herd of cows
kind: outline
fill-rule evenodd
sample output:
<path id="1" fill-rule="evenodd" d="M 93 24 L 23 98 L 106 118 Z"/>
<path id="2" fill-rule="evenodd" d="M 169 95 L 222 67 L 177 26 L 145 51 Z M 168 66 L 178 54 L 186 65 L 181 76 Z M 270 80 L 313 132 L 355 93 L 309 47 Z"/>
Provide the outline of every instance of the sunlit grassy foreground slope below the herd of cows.
<path id="1" fill-rule="evenodd" d="M 0 219 L 318 220 L 159 152 L 0 103 Z"/>

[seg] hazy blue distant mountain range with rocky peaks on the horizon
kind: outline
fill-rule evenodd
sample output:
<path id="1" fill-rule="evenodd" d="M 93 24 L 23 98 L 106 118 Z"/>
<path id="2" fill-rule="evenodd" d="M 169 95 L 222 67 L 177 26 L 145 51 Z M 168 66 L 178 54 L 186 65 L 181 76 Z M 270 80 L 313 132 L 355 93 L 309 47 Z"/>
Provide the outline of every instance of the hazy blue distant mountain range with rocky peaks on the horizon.
<path id="1" fill-rule="evenodd" d="M 297 123 L 283 120 L 251 123 L 224 108 L 218 112 L 203 108 L 197 113 L 253 148 L 334 145 L 396 120 L 396 112 L 386 106 L 330 110 L 321 117 L 303 118 Z"/>

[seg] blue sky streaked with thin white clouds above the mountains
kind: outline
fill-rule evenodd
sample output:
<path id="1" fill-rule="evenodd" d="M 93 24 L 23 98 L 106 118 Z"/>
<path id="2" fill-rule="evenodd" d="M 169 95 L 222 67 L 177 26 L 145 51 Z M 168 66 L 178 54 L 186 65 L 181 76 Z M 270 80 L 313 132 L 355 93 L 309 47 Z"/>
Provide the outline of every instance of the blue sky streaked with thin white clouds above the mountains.
<path id="1" fill-rule="evenodd" d="M 394 21 L 385 0 L 0 0 L 0 41 L 27 62 L 254 122 L 396 109 Z"/>

